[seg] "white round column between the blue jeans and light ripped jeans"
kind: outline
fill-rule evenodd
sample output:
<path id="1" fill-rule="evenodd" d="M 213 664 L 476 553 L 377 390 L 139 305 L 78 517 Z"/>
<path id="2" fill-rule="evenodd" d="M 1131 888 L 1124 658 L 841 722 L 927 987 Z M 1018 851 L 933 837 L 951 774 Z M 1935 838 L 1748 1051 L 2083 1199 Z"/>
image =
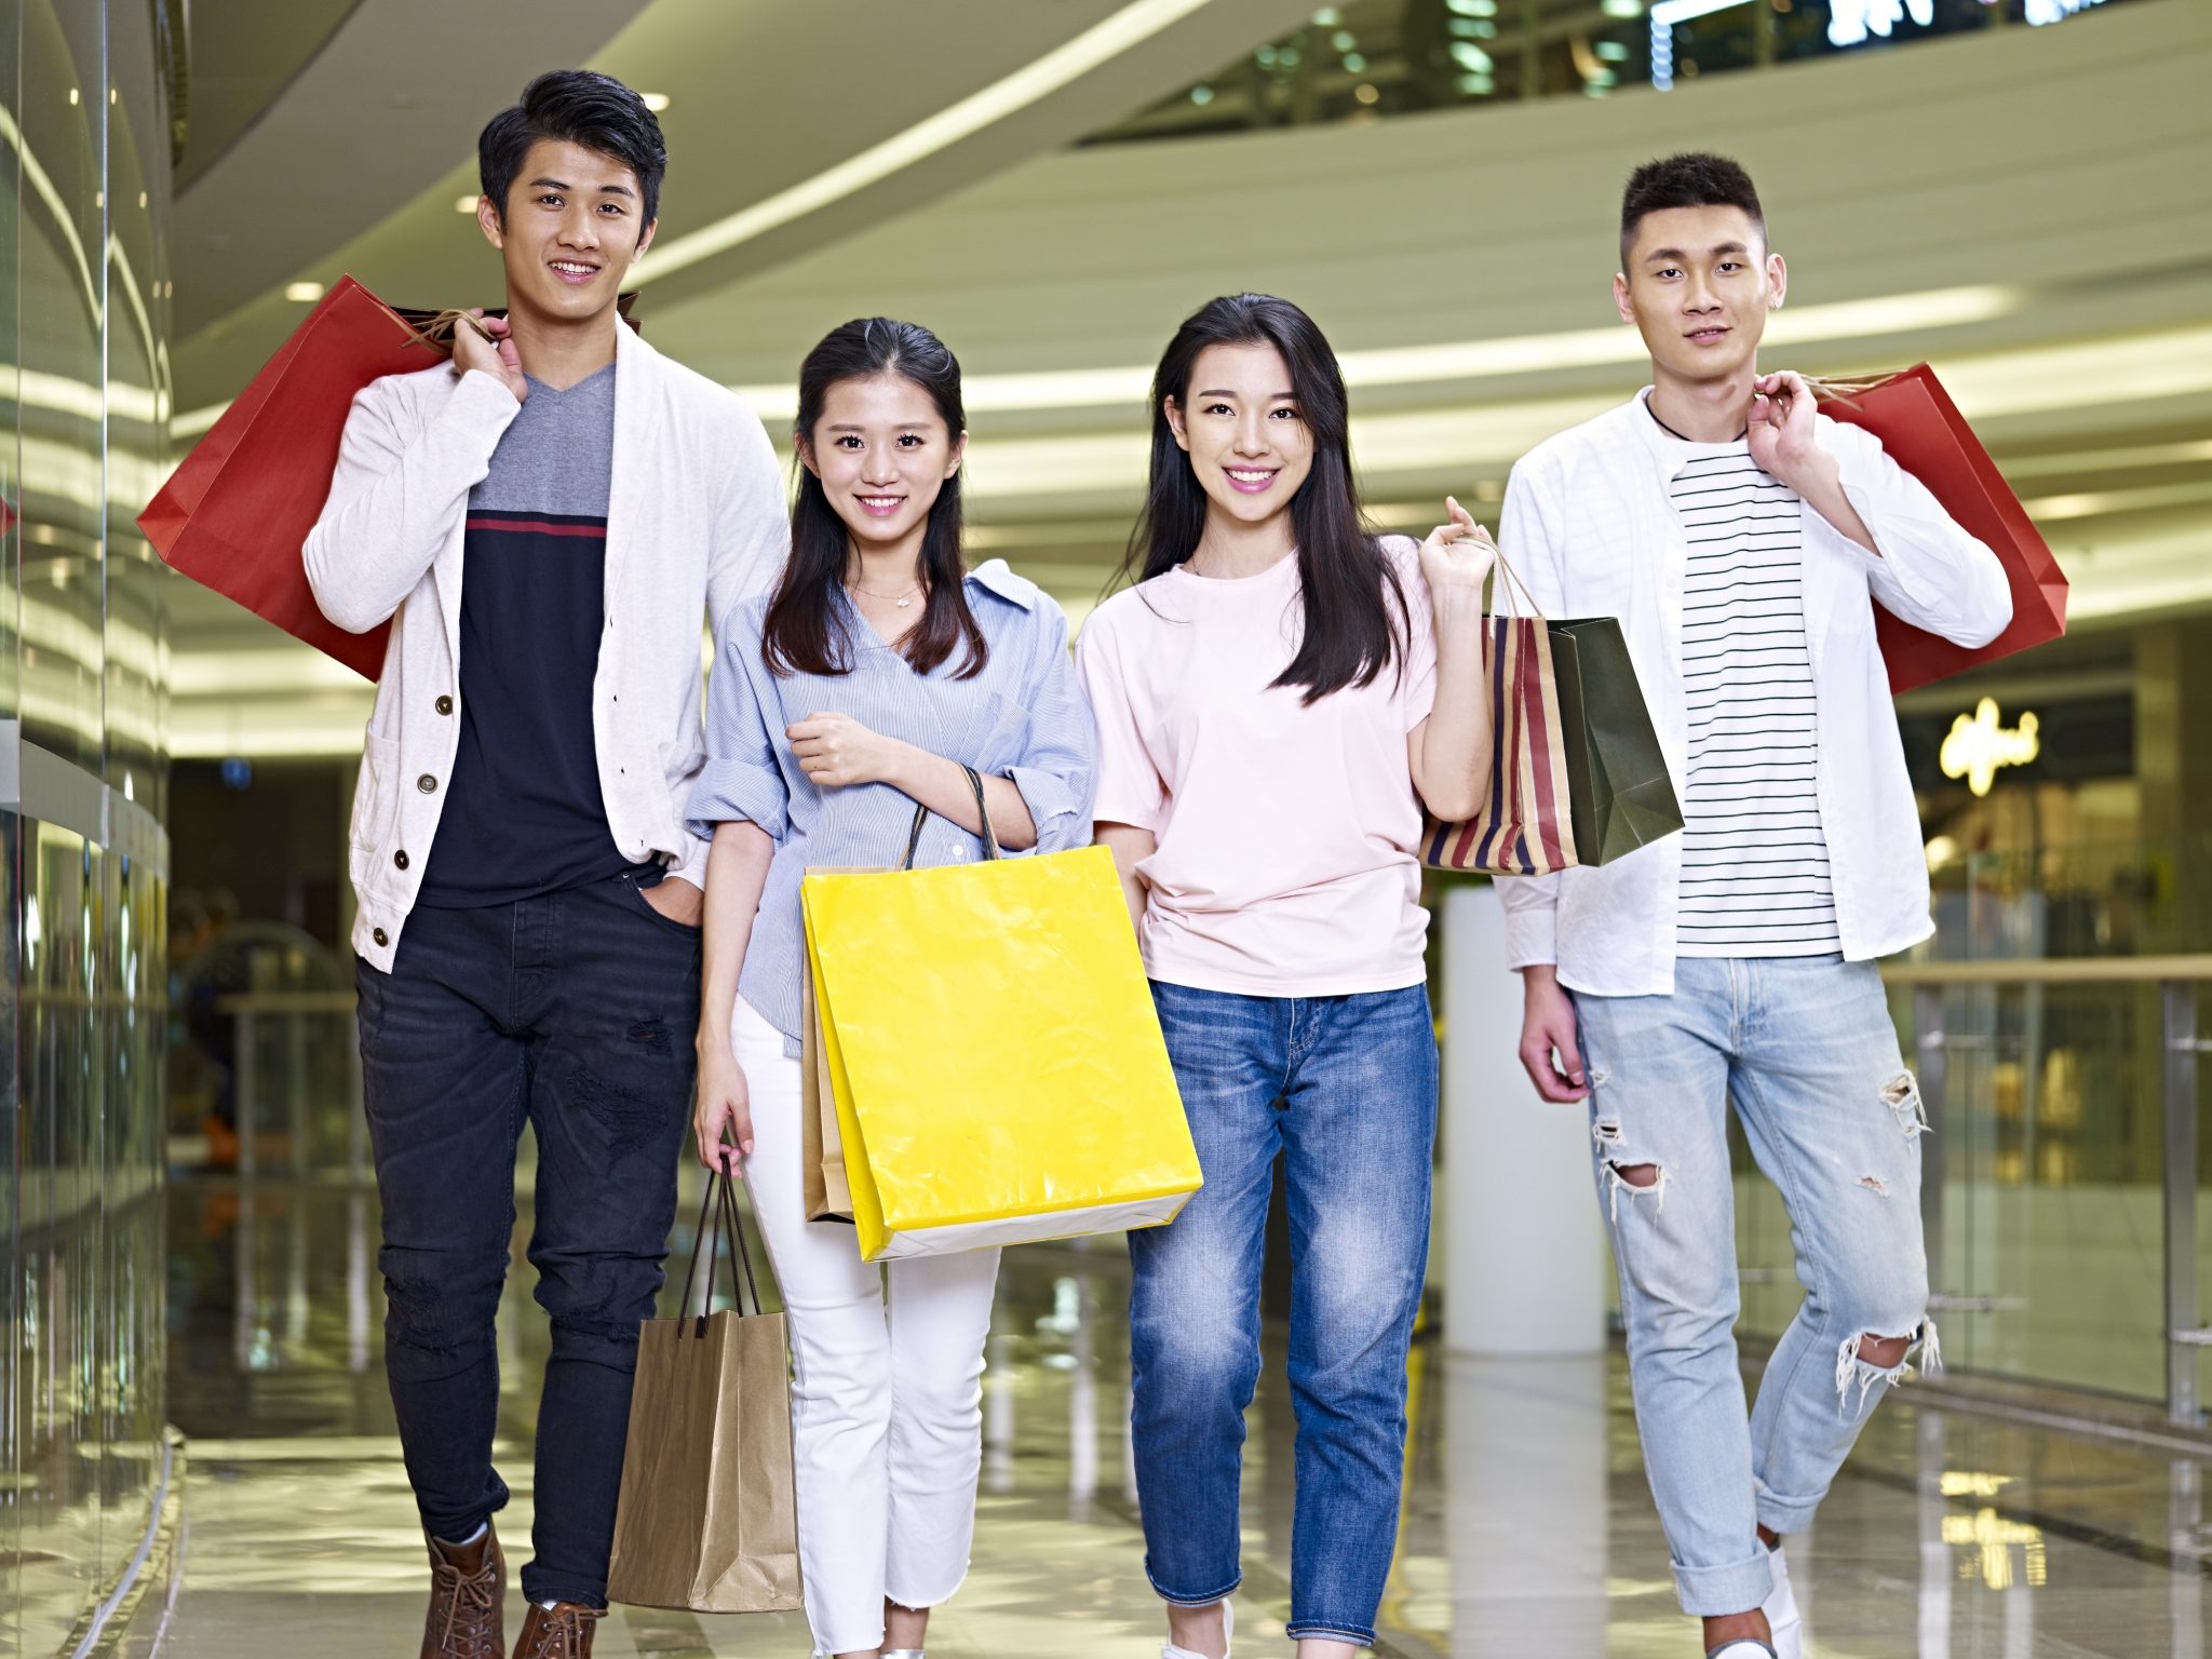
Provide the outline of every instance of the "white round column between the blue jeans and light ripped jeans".
<path id="1" fill-rule="evenodd" d="M 1462 1354 L 1597 1354 L 1606 1234 L 1588 1106 L 1520 1066 L 1520 975 L 1498 889 L 1451 887 L 1444 940 L 1444 1343 Z"/>

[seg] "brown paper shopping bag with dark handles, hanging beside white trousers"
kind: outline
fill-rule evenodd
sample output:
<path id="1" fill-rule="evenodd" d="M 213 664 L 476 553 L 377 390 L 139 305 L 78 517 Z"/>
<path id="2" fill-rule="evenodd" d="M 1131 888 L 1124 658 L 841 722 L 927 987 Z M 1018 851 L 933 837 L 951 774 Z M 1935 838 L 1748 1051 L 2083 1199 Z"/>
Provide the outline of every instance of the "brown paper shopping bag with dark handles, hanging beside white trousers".
<path id="1" fill-rule="evenodd" d="M 714 1243 L 708 1248 L 708 1237 Z M 719 1314 L 723 1239 L 752 1290 Z M 692 1279 L 708 1250 L 692 1314 Z M 730 1177 L 710 1175 L 684 1274 L 684 1314 L 637 1329 L 637 1385 L 615 1509 L 606 1595 L 690 1613 L 785 1613 L 799 1606 L 799 1504 L 792 1475 L 790 1334 L 761 1312 Z"/>

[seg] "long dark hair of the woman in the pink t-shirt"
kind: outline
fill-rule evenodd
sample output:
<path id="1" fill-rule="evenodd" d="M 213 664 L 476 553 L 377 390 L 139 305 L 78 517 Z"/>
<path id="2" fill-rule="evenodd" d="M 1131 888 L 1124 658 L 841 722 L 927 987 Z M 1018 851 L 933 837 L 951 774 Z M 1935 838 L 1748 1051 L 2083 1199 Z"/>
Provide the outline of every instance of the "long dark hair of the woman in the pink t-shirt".
<path id="1" fill-rule="evenodd" d="M 1290 498 L 1298 542 L 1298 586 L 1305 628 L 1298 655 L 1276 686 L 1305 686 L 1314 703 L 1345 686 L 1369 686 L 1400 657 L 1407 597 L 1398 571 L 1360 513 L 1352 482 L 1352 431 L 1345 376 L 1314 319 L 1287 299 L 1230 294 L 1208 301 L 1175 332 L 1152 374 L 1152 482 L 1128 538 L 1121 577 L 1144 582 L 1199 551 L 1206 491 L 1190 456 L 1175 442 L 1168 398 L 1188 414 L 1190 374 L 1208 345 L 1272 345 L 1290 367 L 1298 418 L 1314 436 L 1314 469 Z M 1396 611 L 1396 617 L 1394 617 Z"/>

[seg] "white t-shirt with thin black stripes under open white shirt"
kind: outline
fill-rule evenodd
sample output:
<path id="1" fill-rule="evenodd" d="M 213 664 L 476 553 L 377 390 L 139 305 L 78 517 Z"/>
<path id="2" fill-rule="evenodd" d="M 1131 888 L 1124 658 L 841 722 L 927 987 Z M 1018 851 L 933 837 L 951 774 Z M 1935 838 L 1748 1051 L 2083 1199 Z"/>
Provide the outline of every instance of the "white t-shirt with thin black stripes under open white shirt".
<path id="1" fill-rule="evenodd" d="M 1818 723 L 1805 653 L 1796 493 L 1750 445 L 1668 438 L 1668 484 L 1690 542 L 1681 677 L 1679 956 L 1827 956 L 1843 949 L 1816 790 Z"/>

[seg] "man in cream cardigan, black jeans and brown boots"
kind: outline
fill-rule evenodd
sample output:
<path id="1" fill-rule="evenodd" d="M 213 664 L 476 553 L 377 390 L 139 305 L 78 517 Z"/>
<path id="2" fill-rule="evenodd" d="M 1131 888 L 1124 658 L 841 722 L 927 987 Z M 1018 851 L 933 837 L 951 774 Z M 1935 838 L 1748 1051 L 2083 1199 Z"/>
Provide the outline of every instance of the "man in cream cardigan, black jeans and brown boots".
<path id="1" fill-rule="evenodd" d="M 774 580 L 787 518 L 754 414 L 617 316 L 666 168 L 644 100 L 540 75 L 478 148 L 507 316 L 354 400 L 305 564 L 338 626 L 394 622 L 352 878 L 422 1655 L 507 1652 L 493 1314 L 526 1121 L 553 1349 L 515 1652 L 577 1659 L 690 1117 L 699 633 Z"/>

